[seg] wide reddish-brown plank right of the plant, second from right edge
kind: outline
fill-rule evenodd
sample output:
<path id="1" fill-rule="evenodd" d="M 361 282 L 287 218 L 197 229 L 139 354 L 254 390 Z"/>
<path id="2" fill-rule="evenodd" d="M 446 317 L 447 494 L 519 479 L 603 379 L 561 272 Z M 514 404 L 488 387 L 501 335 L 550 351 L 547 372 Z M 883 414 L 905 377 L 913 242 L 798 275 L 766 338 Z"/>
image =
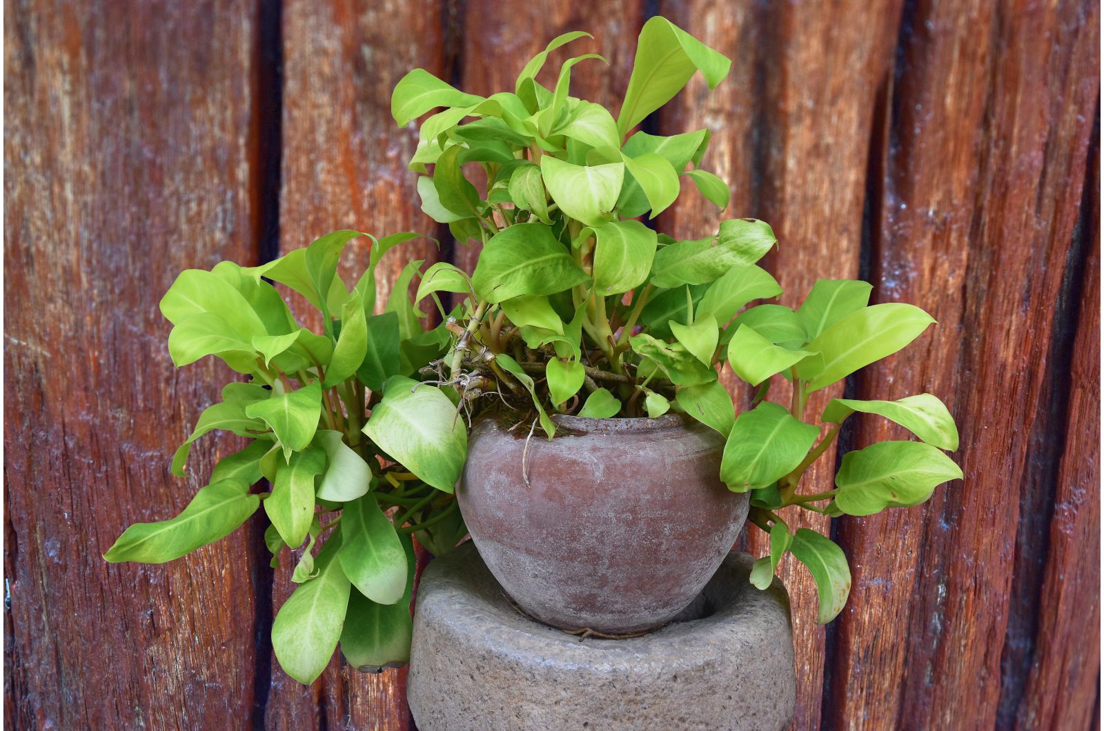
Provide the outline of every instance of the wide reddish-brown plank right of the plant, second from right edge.
<path id="1" fill-rule="evenodd" d="M 1051 388 L 1097 29 L 1082 3 L 919 2 L 903 21 L 871 278 L 878 300 L 921 305 L 940 326 L 858 395 L 947 401 L 966 478 L 920 510 L 840 521 L 856 573 L 826 692 L 835 725 L 996 723 L 1018 490 Z M 860 423 L 857 446 L 901 438 Z"/>

